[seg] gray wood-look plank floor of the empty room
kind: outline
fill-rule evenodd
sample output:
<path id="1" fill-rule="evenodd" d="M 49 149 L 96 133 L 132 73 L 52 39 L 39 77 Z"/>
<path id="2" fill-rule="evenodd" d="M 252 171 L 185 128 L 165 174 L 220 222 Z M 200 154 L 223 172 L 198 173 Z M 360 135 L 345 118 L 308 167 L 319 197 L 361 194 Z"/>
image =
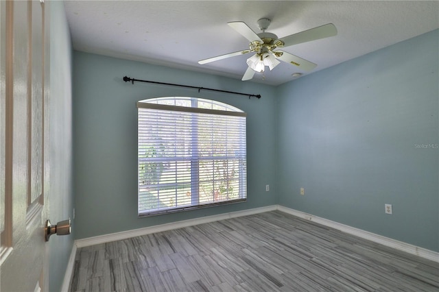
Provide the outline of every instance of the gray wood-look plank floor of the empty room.
<path id="1" fill-rule="evenodd" d="M 273 211 L 82 247 L 70 291 L 439 291 L 439 264 Z"/>

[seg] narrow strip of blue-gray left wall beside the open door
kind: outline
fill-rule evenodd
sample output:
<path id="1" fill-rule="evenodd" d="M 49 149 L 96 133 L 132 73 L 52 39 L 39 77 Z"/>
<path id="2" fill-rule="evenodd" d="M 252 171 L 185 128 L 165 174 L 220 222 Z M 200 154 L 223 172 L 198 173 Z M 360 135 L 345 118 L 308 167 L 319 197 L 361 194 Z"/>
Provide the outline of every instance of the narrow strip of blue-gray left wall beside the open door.
<path id="1" fill-rule="evenodd" d="M 73 219 L 72 49 L 62 1 L 50 1 L 49 212 L 52 223 Z M 49 241 L 49 291 L 60 291 L 75 239 Z"/>

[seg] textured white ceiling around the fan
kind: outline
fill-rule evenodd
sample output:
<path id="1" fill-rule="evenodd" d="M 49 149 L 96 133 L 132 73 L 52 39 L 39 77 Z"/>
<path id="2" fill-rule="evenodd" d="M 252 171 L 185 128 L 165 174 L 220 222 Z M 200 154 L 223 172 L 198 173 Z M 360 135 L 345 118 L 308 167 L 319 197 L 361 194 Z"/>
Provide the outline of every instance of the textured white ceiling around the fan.
<path id="1" fill-rule="evenodd" d="M 313 73 L 439 28 L 439 1 L 65 1 L 73 48 L 241 79 L 248 55 L 198 60 L 248 49 L 227 25 L 272 19 L 279 38 L 333 23 L 338 34 L 283 50 L 318 64 Z M 301 72 L 281 62 L 253 81 L 278 85 Z M 306 74 L 309 74 L 306 73 Z M 135 78 L 141 78 L 137 76 Z M 161 81 L 161 80 L 156 80 Z"/>

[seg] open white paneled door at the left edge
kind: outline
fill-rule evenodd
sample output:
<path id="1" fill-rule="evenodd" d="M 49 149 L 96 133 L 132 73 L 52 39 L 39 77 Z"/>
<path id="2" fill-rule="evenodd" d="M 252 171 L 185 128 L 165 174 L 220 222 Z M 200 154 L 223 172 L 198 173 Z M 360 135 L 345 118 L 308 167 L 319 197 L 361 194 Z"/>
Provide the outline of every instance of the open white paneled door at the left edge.
<path id="1" fill-rule="evenodd" d="M 47 290 L 49 20 L 42 1 L 0 1 L 0 291 Z"/>

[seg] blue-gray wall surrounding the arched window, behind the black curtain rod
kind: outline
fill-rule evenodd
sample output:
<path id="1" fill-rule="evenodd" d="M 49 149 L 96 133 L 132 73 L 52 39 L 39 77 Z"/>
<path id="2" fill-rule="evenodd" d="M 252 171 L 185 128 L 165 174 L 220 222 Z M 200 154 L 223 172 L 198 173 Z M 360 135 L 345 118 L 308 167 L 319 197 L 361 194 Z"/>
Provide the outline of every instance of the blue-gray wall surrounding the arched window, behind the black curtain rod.
<path id="1" fill-rule="evenodd" d="M 76 238 L 132 230 L 276 204 L 276 104 L 271 86 L 169 69 L 141 62 L 73 53 Z M 261 94 L 261 99 L 208 90 L 123 82 L 123 76 Z M 137 108 L 142 99 L 215 99 L 247 116 L 248 200 L 171 215 L 137 217 Z M 270 184 L 270 192 L 265 192 Z"/>

